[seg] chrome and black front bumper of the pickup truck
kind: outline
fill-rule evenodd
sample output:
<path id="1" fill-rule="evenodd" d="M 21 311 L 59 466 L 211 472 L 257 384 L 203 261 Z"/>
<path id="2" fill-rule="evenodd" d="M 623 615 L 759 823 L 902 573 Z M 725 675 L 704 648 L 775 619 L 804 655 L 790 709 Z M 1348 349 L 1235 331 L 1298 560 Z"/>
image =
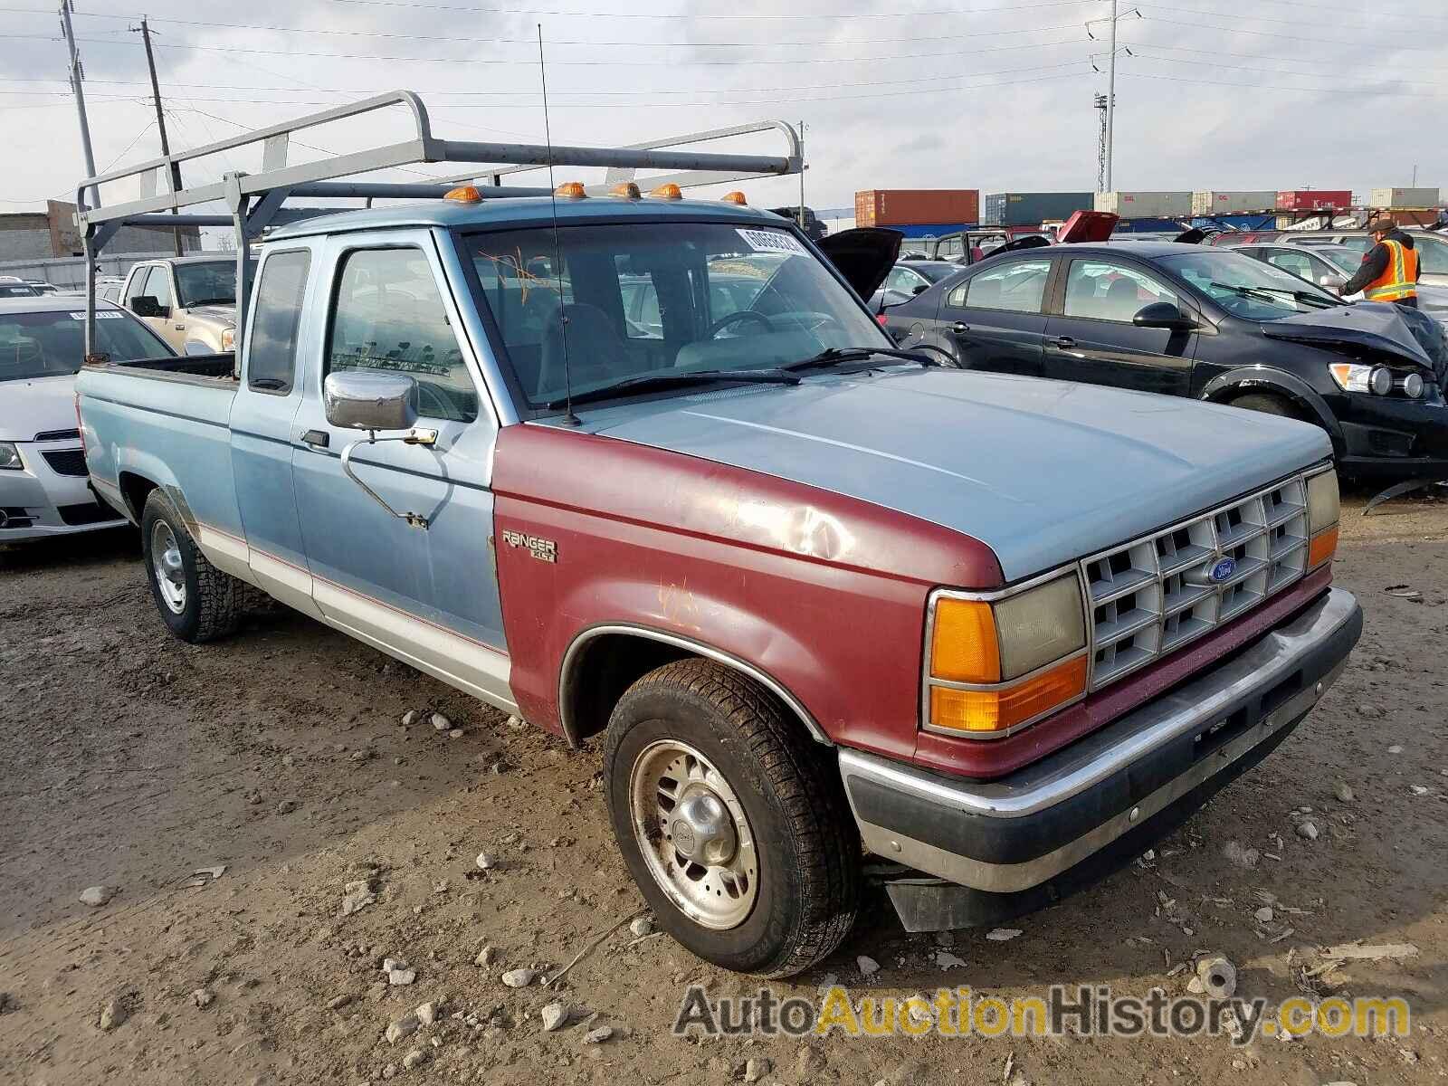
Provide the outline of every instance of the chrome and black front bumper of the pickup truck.
<path id="1" fill-rule="evenodd" d="M 1329 589 L 1225 663 L 999 780 L 841 750 L 866 847 L 935 876 L 891 883 L 905 927 L 1031 912 L 1140 856 L 1287 737 L 1361 633 L 1357 599 Z"/>

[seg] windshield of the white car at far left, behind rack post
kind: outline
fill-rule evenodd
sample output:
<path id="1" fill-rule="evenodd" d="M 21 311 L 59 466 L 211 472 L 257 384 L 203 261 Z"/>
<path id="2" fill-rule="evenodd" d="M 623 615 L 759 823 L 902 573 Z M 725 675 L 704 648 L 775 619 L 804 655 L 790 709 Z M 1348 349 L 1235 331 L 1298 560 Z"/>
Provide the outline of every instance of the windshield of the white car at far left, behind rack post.
<path id="1" fill-rule="evenodd" d="M 96 350 L 111 362 L 174 352 L 122 310 L 97 310 Z M 85 358 L 85 310 L 0 313 L 0 381 L 74 374 Z"/>

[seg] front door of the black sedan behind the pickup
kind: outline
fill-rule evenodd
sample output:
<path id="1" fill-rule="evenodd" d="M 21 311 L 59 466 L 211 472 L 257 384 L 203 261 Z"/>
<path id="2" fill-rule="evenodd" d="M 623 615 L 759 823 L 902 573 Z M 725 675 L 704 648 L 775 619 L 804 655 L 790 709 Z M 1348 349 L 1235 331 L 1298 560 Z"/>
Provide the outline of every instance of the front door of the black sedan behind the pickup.
<path id="1" fill-rule="evenodd" d="M 1112 258 L 1073 258 L 1063 297 L 1051 306 L 1045 323 L 1045 376 L 1187 395 L 1196 332 L 1131 323 L 1141 308 L 1161 301 L 1192 316 L 1182 297 L 1144 266 Z"/>

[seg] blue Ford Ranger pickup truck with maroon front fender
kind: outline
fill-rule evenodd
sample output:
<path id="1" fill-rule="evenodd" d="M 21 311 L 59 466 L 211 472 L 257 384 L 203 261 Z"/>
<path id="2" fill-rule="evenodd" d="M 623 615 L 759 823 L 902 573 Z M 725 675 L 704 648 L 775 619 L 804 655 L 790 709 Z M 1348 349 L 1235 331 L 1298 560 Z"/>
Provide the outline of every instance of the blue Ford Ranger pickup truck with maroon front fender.
<path id="1" fill-rule="evenodd" d="M 84 368 L 178 637 L 259 589 L 602 733 L 660 925 L 773 976 L 844 938 L 866 854 L 909 930 L 1058 901 L 1341 672 L 1319 429 L 896 350 L 888 232 L 560 191 L 284 226 L 239 358 Z"/>

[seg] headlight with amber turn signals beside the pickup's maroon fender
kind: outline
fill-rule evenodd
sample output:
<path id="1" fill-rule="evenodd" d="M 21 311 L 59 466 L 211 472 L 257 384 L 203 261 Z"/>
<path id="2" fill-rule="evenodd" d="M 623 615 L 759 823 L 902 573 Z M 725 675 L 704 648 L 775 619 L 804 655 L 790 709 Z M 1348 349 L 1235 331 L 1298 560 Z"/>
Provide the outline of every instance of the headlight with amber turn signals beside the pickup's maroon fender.
<path id="1" fill-rule="evenodd" d="M 1066 573 L 995 601 L 937 592 L 928 650 L 925 727 L 1008 734 L 1086 692 L 1080 579 Z"/>

